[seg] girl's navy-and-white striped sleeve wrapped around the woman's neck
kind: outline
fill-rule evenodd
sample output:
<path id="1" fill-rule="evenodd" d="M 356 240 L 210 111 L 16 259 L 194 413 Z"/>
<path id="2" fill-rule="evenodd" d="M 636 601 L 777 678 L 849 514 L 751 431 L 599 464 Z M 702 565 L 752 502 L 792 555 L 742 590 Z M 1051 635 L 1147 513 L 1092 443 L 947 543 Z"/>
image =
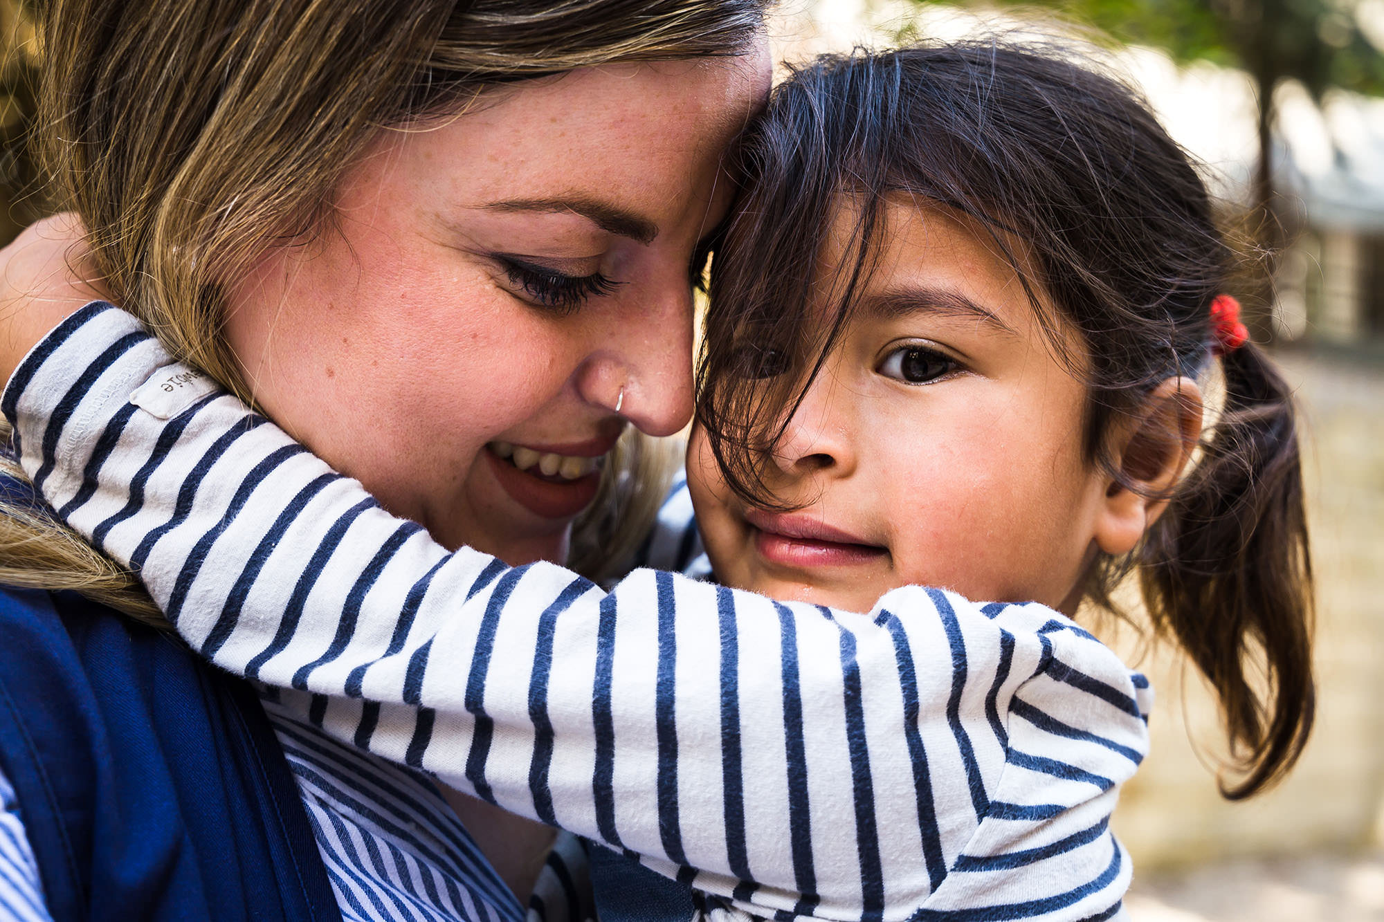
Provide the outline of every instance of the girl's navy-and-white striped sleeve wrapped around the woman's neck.
<path id="1" fill-rule="evenodd" d="M 44 498 L 194 649 L 713 915 L 1118 911 L 1102 824 L 1147 736 L 1129 673 L 1060 615 L 922 587 L 854 615 L 656 570 L 605 593 L 450 554 L 108 306 L 3 407 Z"/>

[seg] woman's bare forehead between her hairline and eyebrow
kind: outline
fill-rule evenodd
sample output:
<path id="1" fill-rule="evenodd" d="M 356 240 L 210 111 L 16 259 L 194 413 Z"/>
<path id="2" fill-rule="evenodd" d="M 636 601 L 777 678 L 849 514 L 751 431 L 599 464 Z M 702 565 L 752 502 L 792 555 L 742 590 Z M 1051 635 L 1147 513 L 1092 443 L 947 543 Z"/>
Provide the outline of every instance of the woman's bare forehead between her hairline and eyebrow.
<path id="1" fill-rule="evenodd" d="M 509 84 L 454 118 L 382 133 L 356 179 L 439 204 L 570 201 L 662 224 L 714 177 L 763 105 L 760 76 L 760 62 L 740 55 Z"/>

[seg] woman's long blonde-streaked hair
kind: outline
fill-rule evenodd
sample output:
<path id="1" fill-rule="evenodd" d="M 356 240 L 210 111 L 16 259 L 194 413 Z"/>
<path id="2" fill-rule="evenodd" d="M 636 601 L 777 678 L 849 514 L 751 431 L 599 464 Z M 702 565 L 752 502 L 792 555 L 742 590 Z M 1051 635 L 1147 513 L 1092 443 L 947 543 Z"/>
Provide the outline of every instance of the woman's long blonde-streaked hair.
<path id="1" fill-rule="evenodd" d="M 252 399 L 221 336 L 223 291 L 270 242 L 324 227 L 381 129 L 458 112 L 500 83 L 738 54 L 767 3 L 53 0 L 40 141 L 55 204 L 84 222 L 111 295 Z M 584 519 L 608 548 L 632 547 L 667 485 L 670 450 L 632 442 Z M 0 580 L 75 588 L 162 624 L 129 573 L 25 505 L 0 512 Z"/>

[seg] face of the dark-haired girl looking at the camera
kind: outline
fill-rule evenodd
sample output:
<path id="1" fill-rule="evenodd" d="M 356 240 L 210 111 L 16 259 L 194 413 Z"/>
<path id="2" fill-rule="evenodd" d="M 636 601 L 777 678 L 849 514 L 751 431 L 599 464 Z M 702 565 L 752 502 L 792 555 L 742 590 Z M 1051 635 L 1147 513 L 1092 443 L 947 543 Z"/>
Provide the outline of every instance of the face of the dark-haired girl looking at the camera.
<path id="1" fill-rule="evenodd" d="M 843 259 L 853 217 L 823 266 Z M 973 224 L 891 204 L 883 239 L 854 320 L 765 460 L 765 485 L 803 508 L 746 508 L 693 435 L 689 485 L 717 577 L 850 611 L 915 583 L 1074 608 L 1111 525 L 1110 480 L 1082 457 L 1082 383 Z"/>

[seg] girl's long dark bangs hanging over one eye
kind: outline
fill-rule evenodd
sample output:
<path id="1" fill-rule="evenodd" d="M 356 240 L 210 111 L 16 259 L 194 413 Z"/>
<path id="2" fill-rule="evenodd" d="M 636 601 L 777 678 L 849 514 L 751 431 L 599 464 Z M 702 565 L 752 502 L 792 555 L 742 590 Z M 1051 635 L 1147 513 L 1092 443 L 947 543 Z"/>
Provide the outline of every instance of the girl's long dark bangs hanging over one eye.
<path id="1" fill-rule="evenodd" d="M 698 424 L 729 487 L 765 508 L 783 508 L 761 479 L 765 449 L 840 339 L 877 249 L 882 114 L 897 93 L 829 91 L 875 83 L 854 62 L 818 61 L 778 87 L 739 147 L 746 190 L 711 263 Z M 843 215 L 854 215 L 844 233 Z"/>

